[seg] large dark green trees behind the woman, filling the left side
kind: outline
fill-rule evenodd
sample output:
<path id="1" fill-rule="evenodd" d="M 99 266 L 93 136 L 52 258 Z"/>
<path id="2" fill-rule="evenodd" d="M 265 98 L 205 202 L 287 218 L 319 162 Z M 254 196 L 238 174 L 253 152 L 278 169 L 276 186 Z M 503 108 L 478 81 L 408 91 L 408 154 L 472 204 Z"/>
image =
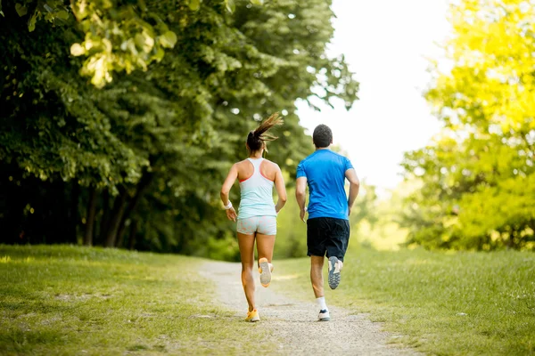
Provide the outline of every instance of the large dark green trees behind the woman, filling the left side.
<path id="1" fill-rule="evenodd" d="M 145 26 L 138 20 L 141 3 L 125 4 L 126 10 L 119 3 L 99 4 L 85 11 L 100 13 L 104 23 L 120 10 L 113 16 L 132 20 L 124 38 L 143 47 L 141 37 L 136 43 Z M 156 21 L 161 27 L 153 33 L 143 29 L 150 36 L 166 33 L 165 28 L 180 35 L 173 48 L 144 70 L 116 73 L 100 89 L 78 76 L 107 45 L 86 36 L 86 31 L 91 36 L 106 31 L 98 21 L 86 29 L 84 19 L 93 18 L 89 14 L 62 27 L 38 21 L 37 30 L 28 33 L 27 24 L 13 16 L 14 4 L 4 4 L 4 241 L 75 242 L 83 236 L 88 245 L 211 255 L 221 239 L 233 251 L 226 236 L 234 227 L 220 209 L 218 191 L 228 168 L 246 155 L 246 134 L 263 117 L 282 111 L 285 124 L 277 129 L 279 139 L 270 144 L 267 157 L 293 173 L 311 151 L 294 102 L 322 88 L 319 96 L 327 102 L 337 96 L 350 107 L 357 99 L 358 83 L 345 62 L 325 55 L 333 35 L 333 14 L 325 2 L 254 6 L 239 1 L 232 14 L 220 1 L 202 1 L 198 11 L 190 9 L 192 3 L 178 10 L 177 4 L 152 2 L 143 10 L 143 16 L 165 19 L 165 27 Z M 115 56 L 117 36 L 106 38 L 113 42 L 113 65 L 121 66 L 126 62 Z M 95 53 L 91 50 L 86 59 L 70 56 L 71 45 L 86 48 L 87 38 L 95 42 Z M 173 36 L 163 41 L 174 42 Z M 138 54 L 141 47 L 136 47 Z M 78 195 L 71 194 L 77 190 Z M 61 223 L 50 223 L 45 239 L 44 223 L 34 222 L 50 216 L 61 222 L 63 212 L 70 212 L 67 220 L 74 231 L 65 234 Z M 205 248 L 208 241 L 211 250 Z M 234 253 L 221 258 L 235 259 Z"/>

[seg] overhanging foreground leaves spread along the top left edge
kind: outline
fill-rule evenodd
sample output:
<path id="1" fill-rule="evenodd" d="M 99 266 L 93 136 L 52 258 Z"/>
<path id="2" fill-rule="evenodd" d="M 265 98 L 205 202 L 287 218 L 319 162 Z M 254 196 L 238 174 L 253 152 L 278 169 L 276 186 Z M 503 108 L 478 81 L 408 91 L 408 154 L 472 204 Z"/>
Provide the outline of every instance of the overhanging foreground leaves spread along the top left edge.
<path id="1" fill-rule="evenodd" d="M 235 11 L 234 0 L 222 2 L 229 12 Z M 182 32 L 170 30 L 168 23 L 178 20 L 179 30 L 185 30 L 190 12 L 198 11 L 202 0 L 171 3 L 179 19 L 169 12 L 159 12 L 160 4 L 147 4 L 144 0 L 20 0 L 14 10 L 21 18 L 29 17 L 29 32 L 36 29 L 38 20 L 78 28 L 84 39 L 71 44 L 70 53 L 87 57 L 80 73 L 91 77 L 93 85 L 103 87 L 111 82 L 113 72 L 146 70 L 153 61 L 161 61 L 166 49 L 177 44 L 177 33 Z M 252 4 L 262 2 L 256 0 Z M 4 16 L 1 4 L 0 13 Z"/>

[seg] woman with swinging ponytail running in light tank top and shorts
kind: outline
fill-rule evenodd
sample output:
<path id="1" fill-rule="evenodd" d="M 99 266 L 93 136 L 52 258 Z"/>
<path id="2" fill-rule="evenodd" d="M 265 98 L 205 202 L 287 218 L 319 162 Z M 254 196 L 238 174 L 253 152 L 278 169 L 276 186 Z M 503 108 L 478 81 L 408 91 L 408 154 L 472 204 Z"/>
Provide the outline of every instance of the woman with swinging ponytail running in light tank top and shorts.
<path id="1" fill-rule="evenodd" d="M 286 203 L 286 189 L 283 174 L 276 163 L 262 158 L 268 152 L 266 142 L 274 141 L 276 136 L 267 134 L 274 125 L 282 125 L 278 113 L 268 117 L 256 130 L 247 135 L 246 147 L 249 158 L 235 163 L 226 176 L 221 188 L 221 200 L 229 220 L 238 220 L 236 231 L 238 245 L 242 256 L 242 284 L 245 298 L 249 303 L 246 321 L 259 321 L 259 312 L 254 303 L 254 280 L 252 266 L 254 263 L 254 242 L 256 239 L 259 257 L 260 283 L 268 287 L 271 282 L 273 264 L 273 247 L 276 236 L 276 214 Z M 238 214 L 228 199 L 228 193 L 235 180 L 240 181 L 242 196 Z M 273 187 L 278 195 L 276 205 L 273 202 Z"/>

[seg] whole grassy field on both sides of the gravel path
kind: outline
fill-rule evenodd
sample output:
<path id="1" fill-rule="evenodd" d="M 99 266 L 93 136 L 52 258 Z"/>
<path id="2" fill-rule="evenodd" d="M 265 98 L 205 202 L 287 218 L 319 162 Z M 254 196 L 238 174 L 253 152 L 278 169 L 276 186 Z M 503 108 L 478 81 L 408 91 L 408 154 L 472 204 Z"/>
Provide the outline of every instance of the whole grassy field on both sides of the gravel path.
<path id="1" fill-rule="evenodd" d="M 0 354 L 234 354 L 261 324 L 213 305 L 201 259 L 0 245 Z M 276 261 L 272 287 L 313 300 L 309 259 Z M 347 256 L 327 303 L 369 312 L 391 342 L 437 355 L 535 354 L 535 255 Z M 217 296 L 216 296 L 217 299 Z M 333 318 L 336 318 L 333 315 Z M 254 350 L 254 348 L 251 348 Z M 263 352 L 276 352 L 262 344 Z"/>

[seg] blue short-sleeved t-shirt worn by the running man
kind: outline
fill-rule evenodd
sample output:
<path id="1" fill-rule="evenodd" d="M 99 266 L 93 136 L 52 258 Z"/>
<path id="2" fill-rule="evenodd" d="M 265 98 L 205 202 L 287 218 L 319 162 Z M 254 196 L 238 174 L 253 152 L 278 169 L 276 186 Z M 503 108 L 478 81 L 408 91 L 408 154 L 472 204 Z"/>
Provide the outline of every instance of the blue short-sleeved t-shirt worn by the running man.
<path id="1" fill-rule="evenodd" d="M 297 178 L 309 184 L 309 219 L 333 217 L 349 220 L 345 172 L 353 168 L 348 158 L 332 150 L 316 150 L 297 166 Z"/>

